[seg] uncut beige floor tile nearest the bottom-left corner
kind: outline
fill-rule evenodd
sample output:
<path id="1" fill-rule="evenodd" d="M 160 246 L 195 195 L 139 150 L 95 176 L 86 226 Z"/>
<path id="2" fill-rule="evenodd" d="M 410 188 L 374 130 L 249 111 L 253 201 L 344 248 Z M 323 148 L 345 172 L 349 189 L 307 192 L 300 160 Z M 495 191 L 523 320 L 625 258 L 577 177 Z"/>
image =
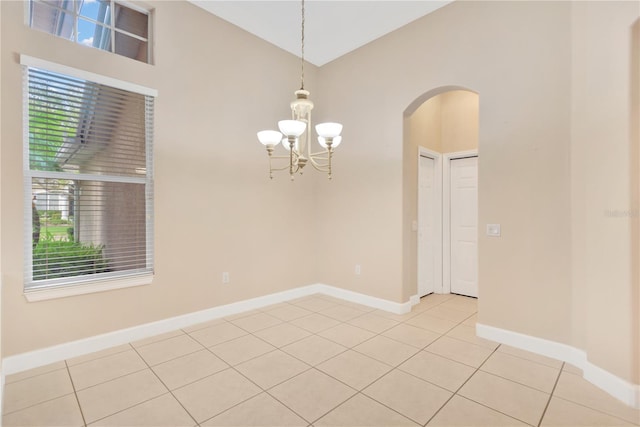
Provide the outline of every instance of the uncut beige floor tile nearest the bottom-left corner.
<path id="1" fill-rule="evenodd" d="M 87 423 L 113 415 L 167 392 L 150 369 L 102 383 L 77 393 Z"/>

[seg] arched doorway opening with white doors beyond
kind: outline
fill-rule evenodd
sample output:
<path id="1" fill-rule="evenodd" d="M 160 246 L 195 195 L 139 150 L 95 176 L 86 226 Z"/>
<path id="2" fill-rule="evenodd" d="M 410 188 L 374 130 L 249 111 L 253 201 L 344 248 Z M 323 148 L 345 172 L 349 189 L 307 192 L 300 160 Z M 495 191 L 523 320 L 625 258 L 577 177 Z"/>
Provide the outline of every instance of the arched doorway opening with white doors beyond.
<path id="1" fill-rule="evenodd" d="M 409 277 L 418 297 L 478 296 L 478 123 L 478 94 L 460 87 L 430 91 L 405 112 L 405 184 L 415 183 L 405 203 L 405 220 L 413 218 Z"/>

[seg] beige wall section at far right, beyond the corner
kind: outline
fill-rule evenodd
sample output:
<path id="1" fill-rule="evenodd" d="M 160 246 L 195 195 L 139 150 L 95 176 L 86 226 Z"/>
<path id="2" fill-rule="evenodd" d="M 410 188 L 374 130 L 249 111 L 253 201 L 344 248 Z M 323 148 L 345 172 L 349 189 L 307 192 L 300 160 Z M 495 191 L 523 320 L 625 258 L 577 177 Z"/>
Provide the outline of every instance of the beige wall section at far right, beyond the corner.
<path id="1" fill-rule="evenodd" d="M 589 361 L 640 383 L 640 5 L 572 10 L 574 336 Z"/>

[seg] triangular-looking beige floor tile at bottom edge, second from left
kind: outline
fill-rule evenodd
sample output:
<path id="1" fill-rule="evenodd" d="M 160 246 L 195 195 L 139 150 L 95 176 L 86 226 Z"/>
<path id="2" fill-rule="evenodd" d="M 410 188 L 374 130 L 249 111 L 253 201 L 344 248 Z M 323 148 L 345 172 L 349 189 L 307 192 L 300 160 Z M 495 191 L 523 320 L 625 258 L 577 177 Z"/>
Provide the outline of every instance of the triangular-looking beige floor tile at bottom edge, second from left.
<path id="1" fill-rule="evenodd" d="M 203 427 L 306 427 L 309 423 L 267 393 L 213 417 Z"/>

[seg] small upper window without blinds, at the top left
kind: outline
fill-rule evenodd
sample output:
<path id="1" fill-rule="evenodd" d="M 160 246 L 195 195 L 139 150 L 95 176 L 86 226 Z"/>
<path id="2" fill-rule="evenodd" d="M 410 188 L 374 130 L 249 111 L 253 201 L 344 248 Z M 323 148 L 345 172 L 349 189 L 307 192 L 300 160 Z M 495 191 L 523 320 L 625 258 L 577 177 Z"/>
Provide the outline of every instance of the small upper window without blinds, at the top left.
<path id="1" fill-rule="evenodd" d="M 149 12 L 114 0 L 29 0 L 29 27 L 150 61 Z"/>

